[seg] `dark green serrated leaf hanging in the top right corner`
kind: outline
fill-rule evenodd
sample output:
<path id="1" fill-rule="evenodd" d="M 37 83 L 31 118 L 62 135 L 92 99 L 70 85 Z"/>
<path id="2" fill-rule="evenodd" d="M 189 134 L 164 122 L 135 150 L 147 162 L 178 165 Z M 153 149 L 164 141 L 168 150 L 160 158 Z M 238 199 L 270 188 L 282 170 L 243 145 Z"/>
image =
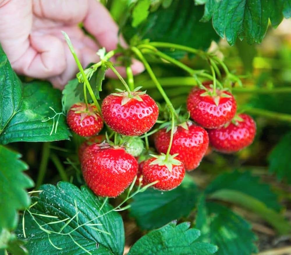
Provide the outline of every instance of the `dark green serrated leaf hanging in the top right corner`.
<path id="1" fill-rule="evenodd" d="M 260 43 L 265 37 L 269 18 L 274 27 L 285 17 L 290 16 L 290 0 L 208 0 L 202 21 L 212 15 L 214 29 L 220 37 L 226 37 L 230 45 L 237 36 L 248 43 Z"/>

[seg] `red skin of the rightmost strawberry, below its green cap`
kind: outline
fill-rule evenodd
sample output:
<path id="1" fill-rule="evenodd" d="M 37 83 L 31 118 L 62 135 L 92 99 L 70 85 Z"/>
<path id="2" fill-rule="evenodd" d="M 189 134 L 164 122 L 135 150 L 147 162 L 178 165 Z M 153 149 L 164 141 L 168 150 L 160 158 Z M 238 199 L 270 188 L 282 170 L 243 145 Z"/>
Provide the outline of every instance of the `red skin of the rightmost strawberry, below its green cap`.
<path id="1" fill-rule="evenodd" d="M 239 114 L 243 121 L 236 126 L 230 123 L 227 127 L 208 131 L 213 149 L 223 153 L 232 153 L 251 145 L 255 138 L 256 124 L 251 116 Z"/>

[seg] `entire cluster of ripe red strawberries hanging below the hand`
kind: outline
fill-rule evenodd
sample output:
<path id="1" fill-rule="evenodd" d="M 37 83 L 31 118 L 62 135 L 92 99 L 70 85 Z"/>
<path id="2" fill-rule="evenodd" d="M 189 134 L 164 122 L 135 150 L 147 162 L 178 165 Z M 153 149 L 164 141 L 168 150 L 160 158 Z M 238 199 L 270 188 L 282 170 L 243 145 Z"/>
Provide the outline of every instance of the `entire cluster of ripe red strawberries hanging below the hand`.
<path id="1" fill-rule="evenodd" d="M 149 131 L 157 121 L 159 108 L 145 92 L 119 92 L 107 96 L 102 103 L 102 117 L 95 106 L 74 104 L 67 122 L 75 133 L 90 137 L 79 148 L 79 158 L 87 185 L 98 196 L 117 197 L 137 175 L 137 185 L 152 183 L 158 190 L 171 190 L 182 182 L 185 171 L 200 164 L 209 144 L 217 151 L 232 153 L 253 142 L 256 126 L 246 114 L 237 114 L 233 95 L 212 85 L 194 88 L 187 99 L 187 110 L 194 122 L 177 123 L 171 131 L 162 128 L 154 135 L 159 155 L 146 155 L 138 163 L 141 150 L 136 146 L 129 153 L 125 146 L 105 141 L 97 135 L 104 122 L 115 132 L 137 137 Z M 198 125 L 199 126 L 198 126 Z M 137 138 L 139 139 L 139 138 Z M 133 143 L 133 147 L 134 147 Z M 133 150 L 132 150 L 133 149 Z M 146 152 L 148 153 L 148 152 Z"/>

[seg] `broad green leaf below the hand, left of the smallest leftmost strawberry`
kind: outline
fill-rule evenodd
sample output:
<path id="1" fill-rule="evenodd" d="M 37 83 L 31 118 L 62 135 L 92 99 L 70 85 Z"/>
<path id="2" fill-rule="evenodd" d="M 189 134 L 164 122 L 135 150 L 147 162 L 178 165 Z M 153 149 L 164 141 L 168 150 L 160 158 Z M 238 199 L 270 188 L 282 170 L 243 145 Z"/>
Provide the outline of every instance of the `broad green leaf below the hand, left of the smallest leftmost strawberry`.
<path id="1" fill-rule="evenodd" d="M 13 117 L 6 123 L 5 129 L 0 132 L 0 143 L 69 139 L 70 131 L 65 116 L 55 117 L 55 122 L 58 120 L 57 130 L 55 130 L 56 124 L 53 128 L 53 120 L 43 122 L 55 115 L 49 107 L 52 107 L 56 113 L 61 113 L 61 91 L 42 81 L 24 84 L 22 101 L 13 113 Z"/>

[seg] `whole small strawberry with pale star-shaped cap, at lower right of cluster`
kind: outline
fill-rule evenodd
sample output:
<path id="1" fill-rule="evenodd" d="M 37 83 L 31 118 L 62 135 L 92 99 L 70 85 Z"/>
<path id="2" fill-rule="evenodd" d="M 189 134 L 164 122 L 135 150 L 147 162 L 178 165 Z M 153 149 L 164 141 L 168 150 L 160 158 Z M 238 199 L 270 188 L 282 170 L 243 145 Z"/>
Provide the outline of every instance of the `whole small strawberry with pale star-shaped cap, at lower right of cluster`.
<path id="1" fill-rule="evenodd" d="M 145 161 L 143 177 L 146 182 L 158 181 L 152 186 L 157 190 L 172 190 L 178 187 L 185 176 L 185 168 L 175 156 L 177 155 L 169 155 L 166 159 L 166 155 L 161 154 Z"/>

